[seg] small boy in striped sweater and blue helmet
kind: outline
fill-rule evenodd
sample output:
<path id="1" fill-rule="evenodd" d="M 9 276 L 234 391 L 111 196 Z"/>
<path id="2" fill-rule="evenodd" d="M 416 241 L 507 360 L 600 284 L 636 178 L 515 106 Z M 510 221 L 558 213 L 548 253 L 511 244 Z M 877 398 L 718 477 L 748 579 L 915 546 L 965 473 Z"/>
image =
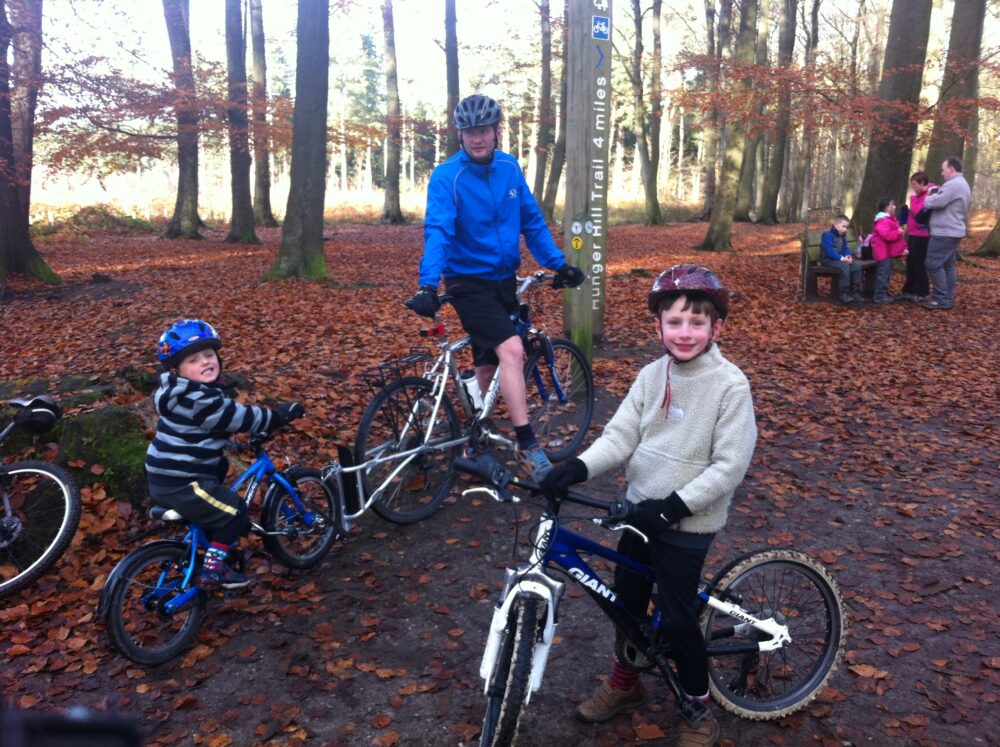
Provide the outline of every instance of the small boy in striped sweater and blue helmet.
<path id="1" fill-rule="evenodd" d="M 165 371 L 153 395 L 160 418 L 146 451 L 153 502 L 198 524 L 211 541 L 198 575 L 198 585 L 207 589 L 249 583 L 224 562 L 250 528 L 242 497 L 225 485 L 223 449 L 230 434 L 267 432 L 305 415 L 297 402 L 269 410 L 228 397 L 220 381 L 221 347 L 219 334 L 201 319 L 182 319 L 160 335 L 156 357 Z"/>

